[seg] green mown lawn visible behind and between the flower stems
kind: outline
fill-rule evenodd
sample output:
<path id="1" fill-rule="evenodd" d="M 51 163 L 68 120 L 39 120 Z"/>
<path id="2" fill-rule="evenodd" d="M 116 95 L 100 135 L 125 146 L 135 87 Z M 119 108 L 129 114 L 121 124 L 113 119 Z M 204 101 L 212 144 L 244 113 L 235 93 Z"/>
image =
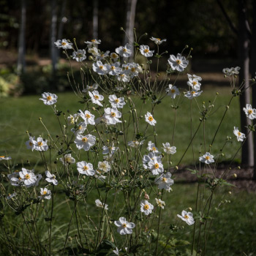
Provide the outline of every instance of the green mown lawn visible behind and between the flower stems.
<path id="1" fill-rule="evenodd" d="M 216 102 L 214 103 L 214 110 L 207 118 L 205 123 L 205 132 L 203 133 L 203 125 L 197 132 L 195 140 L 193 141 L 193 148 L 190 147 L 185 155 L 181 165 L 192 165 L 198 162 L 200 156 L 199 151 L 204 151 L 204 140 L 206 148 L 211 144 L 211 140 L 214 133 L 219 125 L 219 121 L 226 109 L 231 94 L 230 88 L 210 88 L 203 92 L 203 94 L 197 99 L 200 108 L 202 102 L 205 102 L 206 107 L 209 101 L 213 102 L 216 92 L 219 92 Z M 25 142 L 28 140 L 26 131 L 32 133 L 36 138 L 42 135 L 42 138 L 47 138 L 48 132 L 42 126 L 39 121 L 39 117 L 42 118 L 45 126 L 50 131 L 52 137 L 59 135 L 59 122 L 56 116 L 53 114 L 53 110 L 49 106 L 45 106 L 42 101 L 39 100 L 40 95 L 37 96 L 24 96 L 15 99 L 0 99 L 2 106 L 0 110 L 1 124 L 0 124 L 0 154 L 12 157 L 12 163 L 14 165 L 20 164 L 20 162 L 26 163 L 29 159 L 32 167 L 35 170 L 42 170 L 41 158 L 38 152 L 32 152 L 26 149 Z M 76 113 L 79 109 L 83 109 L 84 106 L 78 103 L 78 98 L 73 93 L 59 93 L 58 94 L 57 109 L 64 113 L 69 110 L 70 113 Z M 135 102 L 139 99 L 135 98 Z M 239 104 L 238 99 L 233 99 L 230 109 L 227 111 L 225 121 L 219 129 L 214 146 L 211 148 L 212 154 L 219 154 L 220 149 L 225 144 L 227 136 L 233 136 L 233 127 L 240 127 L 240 121 L 238 118 Z M 150 102 L 147 102 L 147 109 L 151 108 Z M 157 105 L 154 110 L 154 118 L 157 120 L 159 125 L 156 126 L 155 132 L 157 132 L 157 146 L 162 147 L 162 143 L 170 142 L 173 137 L 173 124 L 174 124 L 174 113 L 171 108 L 173 102 L 170 98 L 165 98 L 162 104 Z M 192 111 L 192 135 L 194 134 L 200 121 L 200 111 L 197 108 L 195 101 L 192 102 L 190 108 L 190 101 L 188 100 L 180 102 L 180 108 L 177 110 L 176 119 L 176 134 L 173 145 L 177 148 L 177 153 L 173 155 L 173 165 L 177 165 L 179 159 L 184 154 L 189 140 L 191 138 L 191 123 L 190 123 L 190 111 Z M 139 110 L 138 110 L 139 112 Z M 146 110 L 143 110 L 142 116 L 146 114 Z M 67 113 L 67 115 L 69 115 Z M 124 109 L 124 117 L 128 116 L 127 109 Z M 64 124 L 63 115 L 61 115 L 61 124 Z M 146 127 L 144 118 L 140 120 L 141 130 Z M 154 129 L 148 127 L 148 134 L 152 135 L 148 140 L 154 141 Z M 130 135 L 130 140 L 133 136 Z M 223 159 L 230 160 L 238 150 L 241 144 L 235 139 L 231 140 L 225 146 L 222 153 L 225 154 Z M 192 150 L 193 149 L 193 150 Z M 206 150 L 206 151 L 207 151 Z M 194 157 L 193 157 L 194 154 Z M 239 161 L 240 154 L 236 156 L 236 161 Z M 1 167 L 1 165 L 0 165 Z M 176 214 L 181 214 L 184 208 L 192 207 L 195 208 L 195 194 L 197 184 L 188 183 L 181 184 L 177 183 L 173 185 L 173 192 L 165 195 L 165 203 L 167 207 L 163 211 L 162 225 L 168 227 L 170 222 L 176 224 L 178 219 Z M 208 252 L 206 255 L 209 256 L 233 256 L 233 255 L 256 255 L 256 197 L 255 193 L 239 191 L 238 189 L 231 189 L 233 193 L 230 195 L 228 191 L 230 188 L 220 188 L 216 197 L 214 197 L 213 209 L 221 200 L 227 199 L 231 203 L 225 204 L 217 211 L 216 219 L 214 219 L 211 233 L 208 239 Z M 64 196 L 64 195 L 63 195 Z M 91 197 L 89 204 L 93 205 L 96 198 Z M 154 200 L 154 198 L 152 198 Z M 111 202 L 110 202 L 111 203 Z M 72 208 L 72 201 L 69 201 L 69 206 Z M 53 225 L 58 223 L 64 223 L 58 231 L 55 233 L 55 241 L 53 243 L 58 246 L 59 243 L 63 243 L 63 234 L 67 230 L 65 223 L 69 222 L 67 211 L 69 208 L 67 204 L 59 204 L 56 206 L 56 215 Z M 92 212 L 91 214 L 95 214 Z M 95 218 L 98 218 L 98 214 L 95 214 Z M 169 222 L 169 220 L 171 221 Z M 174 219 L 174 220 L 173 220 Z M 185 230 L 185 234 L 184 234 Z M 184 225 L 182 230 L 182 236 L 184 240 L 191 238 L 192 227 Z M 70 233 L 72 236 L 72 230 Z M 181 236 L 181 233 L 178 233 Z M 191 241 L 190 241 L 191 242 Z M 53 244 L 54 245 L 54 244 Z M 1 252 L 1 249 L 0 249 Z"/>

